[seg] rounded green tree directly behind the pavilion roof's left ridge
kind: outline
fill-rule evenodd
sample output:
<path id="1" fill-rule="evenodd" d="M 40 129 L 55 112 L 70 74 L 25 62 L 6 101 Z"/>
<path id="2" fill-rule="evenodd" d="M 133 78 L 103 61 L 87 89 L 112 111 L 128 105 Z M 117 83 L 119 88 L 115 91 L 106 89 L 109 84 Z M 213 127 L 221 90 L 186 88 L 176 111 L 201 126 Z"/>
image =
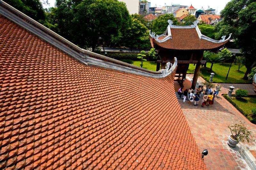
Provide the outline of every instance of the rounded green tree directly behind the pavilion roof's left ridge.
<path id="1" fill-rule="evenodd" d="M 173 25 L 178 25 L 178 20 L 172 14 L 164 14 L 152 21 L 152 32 L 155 32 L 156 35 L 163 34 L 168 26 L 169 19 L 172 20 Z"/>

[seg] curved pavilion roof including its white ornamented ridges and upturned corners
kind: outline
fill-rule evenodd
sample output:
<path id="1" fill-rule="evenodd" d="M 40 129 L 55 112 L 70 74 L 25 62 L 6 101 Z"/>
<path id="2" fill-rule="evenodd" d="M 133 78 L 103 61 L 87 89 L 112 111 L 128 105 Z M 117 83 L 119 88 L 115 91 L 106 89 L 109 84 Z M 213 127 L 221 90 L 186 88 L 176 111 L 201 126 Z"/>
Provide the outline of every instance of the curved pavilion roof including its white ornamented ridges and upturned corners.
<path id="1" fill-rule="evenodd" d="M 172 21 L 168 20 L 169 25 L 162 35 L 149 33 L 149 39 L 152 47 L 162 47 L 173 50 L 211 50 L 216 49 L 228 42 L 231 34 L 227 39 L 222 36 L 221 40 L 213 40 L 205 35 L 202 35 L 197 23 L 191 26 L 174 26 Z"/>

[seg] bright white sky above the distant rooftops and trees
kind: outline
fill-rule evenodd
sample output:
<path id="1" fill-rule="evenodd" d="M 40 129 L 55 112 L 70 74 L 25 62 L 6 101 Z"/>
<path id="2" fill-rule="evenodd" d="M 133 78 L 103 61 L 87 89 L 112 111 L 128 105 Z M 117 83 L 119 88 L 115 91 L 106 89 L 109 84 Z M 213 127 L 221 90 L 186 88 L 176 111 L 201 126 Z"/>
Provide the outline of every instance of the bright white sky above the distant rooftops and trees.
<path id="1" fill-rule="evenodd" d="M 48 0 L 50 5 L 46 6 L 44 5 L 44 8 L 53 7 L 55 0 Z M 196 9 L 201 9 L 202 6 L 204 9 L 207 9 L 208 6 L 212 9 L 216 10 L 216 13 L 220 13 L 221 10 L 224 9 L 225 5 L 230 0 L 148 0 L 148 2 L 151 2 L 151 6 L 157 6 L 162 7 L 164 4 L 170 6 L 172 4 L 180 4 L 180 5 L 187 5 L 192 6 Z M 42 2 L 42 0 L 41 0 Z"/>

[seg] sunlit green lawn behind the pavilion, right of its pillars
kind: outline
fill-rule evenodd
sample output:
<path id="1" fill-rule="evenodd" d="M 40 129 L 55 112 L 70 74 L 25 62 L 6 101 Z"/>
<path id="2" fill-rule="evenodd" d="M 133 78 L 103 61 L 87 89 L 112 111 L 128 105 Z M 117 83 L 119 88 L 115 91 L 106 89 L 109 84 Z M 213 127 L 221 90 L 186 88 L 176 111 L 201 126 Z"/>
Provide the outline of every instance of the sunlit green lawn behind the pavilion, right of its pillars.
<path id="1" fill-rule="evenodd" d="M 202 73 L 202 77 L 205 80 L 209 80 L 211 75 L 211 72 L 209 71 L 210 70 L 209 68 L 211 67 L 211 63 L 207 63 L 206 66 L 207 68 L 201 67 L 200 71 Z M 235 64 L 232 64 L 230 71 L 228 73 L 229 66 L 230 66 L 230 63 L 213 64 L 212 71 L 213 73 L 215 73 L 213 77 L 214 83 L 244 83 L 244 84 L 252 83 L 251 81 L 243 80 L 244 73 L 246 71 L 245 66 L 240 68 L 240 71 L 237 71 L 238 66 Z M 194 66 L 193 64 L 190 64 L 187 73 L 193 74 L 195 71 L 195 68 L 196 66 Z M 225 80 L 227 73 L 228 73 L 228 80 Z"/>

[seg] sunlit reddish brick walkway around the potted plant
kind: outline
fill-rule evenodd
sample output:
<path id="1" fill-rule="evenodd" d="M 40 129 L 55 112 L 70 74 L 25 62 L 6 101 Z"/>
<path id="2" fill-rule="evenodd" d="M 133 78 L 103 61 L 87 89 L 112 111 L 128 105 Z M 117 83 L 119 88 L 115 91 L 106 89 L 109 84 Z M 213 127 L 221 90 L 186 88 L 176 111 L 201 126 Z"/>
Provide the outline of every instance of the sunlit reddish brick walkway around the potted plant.
<path id="1" fill-rule="evenodd" d="M 178 87 L 177 82 L 175 86 Z M 225 93 L 225 90 L 221 92 Z M 228 146 L 228 125 L 239 121 L 245 122 L 252 131 L 254 140 L 251 143 L 239 144 L 248 146 L 256 146 L 256 125 L 247 120 L 222 96 L 215 98 L 214 104 L 209 107 L 189 105 L 188 102 L 183 103 L 182 99 L 179 99 L 179 102 L 200 151 L 208 149 L 209 153 L 204 157 L 208 169 L 250 169 L 238 148 Z"/>

